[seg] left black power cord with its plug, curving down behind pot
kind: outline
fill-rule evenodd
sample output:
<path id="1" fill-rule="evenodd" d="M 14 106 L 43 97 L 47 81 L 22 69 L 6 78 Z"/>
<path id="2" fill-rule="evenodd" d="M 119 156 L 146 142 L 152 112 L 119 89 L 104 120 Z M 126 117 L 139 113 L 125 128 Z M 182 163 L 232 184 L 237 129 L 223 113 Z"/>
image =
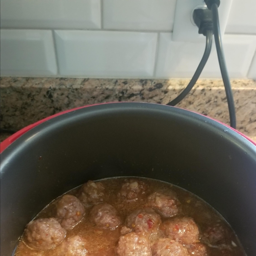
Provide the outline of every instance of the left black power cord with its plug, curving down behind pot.
<path id="1" fill-rule="evenodd" d="M 211 16 L 211 11 L 207 10 L 207 9 L 198 9 L 195 10 L 194 12 L 194 20 L 195 23 L 197 24 L 198 28 L 199 28 L 199 33 L 203 34 L 206 36 L 206 46 L 205 46 L 205 50 L 204 50 L 204 55 L 198 65 L 198 68 L 195 71 L 194 76 L 192 77 L 191 81 L 189 82 L 189 84 L 187 85 L 187 87 L 175 98 L 173 99 L 171 102 L 169 102 L 168 106 L 175 106 L 177 105 L 179 102 L 181 102 L 187 95 L 188 93 L 192 90 L 192 88 L 194 87 L 195 83 L 197 82 L 199 76 L 201 75 L 205 64 L 208 61 L 209 55 L 211 53 L 212 50 L 212 17 Z"/>

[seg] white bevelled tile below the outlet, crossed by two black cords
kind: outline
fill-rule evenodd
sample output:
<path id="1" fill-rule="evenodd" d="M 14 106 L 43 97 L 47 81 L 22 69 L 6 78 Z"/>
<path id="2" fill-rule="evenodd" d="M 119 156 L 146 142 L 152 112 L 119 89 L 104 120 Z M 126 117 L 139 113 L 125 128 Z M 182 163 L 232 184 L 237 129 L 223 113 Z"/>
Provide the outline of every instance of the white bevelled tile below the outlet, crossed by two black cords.
<path id="1" fill-rule="evenodd" d="M 160 34 L 156 76 L 191 78 L 201 61 L 205 44 L 174 42 L 171 38 L 171 33 Z M 223 44 L 230 77 L 246 77 L 256 49 L 256 36 L 225 35 Z M 215 44 L 201 77 L 221 78 Z"/>

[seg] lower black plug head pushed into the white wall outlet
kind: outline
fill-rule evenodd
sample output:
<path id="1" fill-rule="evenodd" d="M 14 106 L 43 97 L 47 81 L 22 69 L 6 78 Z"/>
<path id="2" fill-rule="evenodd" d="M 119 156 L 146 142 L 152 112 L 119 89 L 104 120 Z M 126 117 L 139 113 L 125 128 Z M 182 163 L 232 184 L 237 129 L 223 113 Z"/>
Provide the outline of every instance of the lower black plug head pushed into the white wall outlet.
<path id="1" fill-rule="evenodd" d="M 207 30 L 213 30 L 212 11 L 209 9 L 195 9 L 193 19 L 199 28 L 199 34 L 206 36 Z"/>

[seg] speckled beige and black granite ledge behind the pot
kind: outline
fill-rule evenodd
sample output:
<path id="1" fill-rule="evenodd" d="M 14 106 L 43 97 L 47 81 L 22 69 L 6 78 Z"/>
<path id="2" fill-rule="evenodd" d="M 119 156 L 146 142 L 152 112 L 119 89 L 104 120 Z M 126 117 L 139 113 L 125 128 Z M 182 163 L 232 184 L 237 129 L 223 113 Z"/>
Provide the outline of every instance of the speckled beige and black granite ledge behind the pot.
<path id="1" fill-rule="evenodd" d="M 1 128 L 19 130 L 52 114 L 101 102 L 154 102 L 166 104 L 189 79 L 0 79 Z M 237 129 L 256 140 L 256 81 L 231 81 Z M 179 105 L 229 123 L 227 100 L 221 80 L 200 80 Z"/>

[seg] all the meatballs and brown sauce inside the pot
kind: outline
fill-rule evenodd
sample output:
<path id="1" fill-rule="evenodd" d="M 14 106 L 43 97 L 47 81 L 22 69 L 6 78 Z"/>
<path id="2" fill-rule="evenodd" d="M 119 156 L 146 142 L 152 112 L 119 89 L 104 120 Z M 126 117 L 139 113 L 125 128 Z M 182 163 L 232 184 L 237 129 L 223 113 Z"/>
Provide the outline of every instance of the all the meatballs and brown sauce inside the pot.
<path id="1" fill-rule="evenodd" d="M 145 188 L 134 201 L 119 194 L 131 181 Z M 86 207 L 74 196 L 84 187 Z M 89 196 L 99 194 L 102 201 Z M 145 178 L 90 181 L 55 199 L 27 224 L 15 252 L 25 255 L 245 256 L 236 234 L 207 203 Z"/>

